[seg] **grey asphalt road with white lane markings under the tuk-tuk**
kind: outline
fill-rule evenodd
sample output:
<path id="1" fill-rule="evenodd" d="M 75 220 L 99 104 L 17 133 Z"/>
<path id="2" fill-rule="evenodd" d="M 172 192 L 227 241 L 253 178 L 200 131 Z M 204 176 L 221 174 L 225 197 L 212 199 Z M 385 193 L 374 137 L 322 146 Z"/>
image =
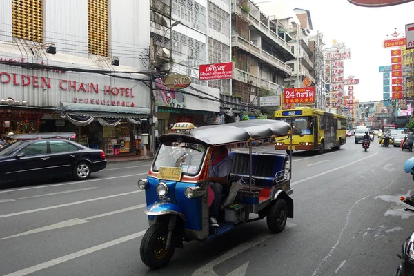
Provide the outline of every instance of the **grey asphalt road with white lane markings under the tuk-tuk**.
<path id="1" fill-rule="evenodd" d="M 377 139 L 364 152 L 353 137 L 339 151 L 295 152 L 286 230 L 246 224 L 184 244 L 155 271 L 139 257 L 148 221 L 137 180 L 149 161 L 110 164 L 87 181 L 3 187 L 0 275 L 394 275 L 414 230 L 414 213 L 400 202 L 414 190 L 403 169 L 413 156 Z"/>

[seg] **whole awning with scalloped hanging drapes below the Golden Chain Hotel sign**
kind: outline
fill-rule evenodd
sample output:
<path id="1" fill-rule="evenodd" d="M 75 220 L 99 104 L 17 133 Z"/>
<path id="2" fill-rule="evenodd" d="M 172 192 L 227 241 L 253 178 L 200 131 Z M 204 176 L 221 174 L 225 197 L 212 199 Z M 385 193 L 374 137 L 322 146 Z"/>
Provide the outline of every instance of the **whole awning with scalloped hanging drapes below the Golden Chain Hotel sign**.
<path id="1" fill-rule="evenodd" d="M 150 116 L 150 109 L 61 102 L 61 116 L 76 126 L 86 126 L 97 119 L 102 126 L 114 127 L 121 119 L 127 119 L 131 124 L 140 124 L 141 118 Z"/>

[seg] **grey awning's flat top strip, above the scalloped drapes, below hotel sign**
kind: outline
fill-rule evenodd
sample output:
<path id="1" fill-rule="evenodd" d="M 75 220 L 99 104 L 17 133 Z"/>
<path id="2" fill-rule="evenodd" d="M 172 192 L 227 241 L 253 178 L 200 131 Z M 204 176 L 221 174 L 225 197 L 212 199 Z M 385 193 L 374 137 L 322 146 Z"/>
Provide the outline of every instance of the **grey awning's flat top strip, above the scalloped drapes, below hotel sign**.
<path id="1" fill-rule="evenodd" d="M 136 108 L 130 106 L 101 106 L 83 103 L 62 103 L 61 111 L 65 114 L 79 116 L 93 116 L 102 118 L 146 118 L 150 116 L 149 108 Z"/>

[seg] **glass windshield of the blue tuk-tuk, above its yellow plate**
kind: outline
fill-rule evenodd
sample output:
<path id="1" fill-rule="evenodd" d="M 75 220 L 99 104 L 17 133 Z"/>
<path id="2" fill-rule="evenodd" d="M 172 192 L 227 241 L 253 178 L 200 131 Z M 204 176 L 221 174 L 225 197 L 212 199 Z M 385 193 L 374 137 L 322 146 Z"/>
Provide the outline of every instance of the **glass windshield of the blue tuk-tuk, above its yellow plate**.
<path id="1" fill-rule="evenodd" d="M 166 142 L 161 144 L 152 170 L 160 167 L 182 168 L 184 175 L 197 175 L 203 165 L 206 146 L 195 143 Z"/>

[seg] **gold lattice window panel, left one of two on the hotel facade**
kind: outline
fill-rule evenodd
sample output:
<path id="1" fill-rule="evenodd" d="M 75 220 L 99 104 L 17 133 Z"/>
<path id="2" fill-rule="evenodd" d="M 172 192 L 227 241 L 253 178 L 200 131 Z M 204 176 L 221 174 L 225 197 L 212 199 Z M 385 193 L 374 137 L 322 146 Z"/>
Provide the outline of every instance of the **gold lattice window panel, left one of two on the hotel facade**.
<path id="1" fill-rule="evenodd" d="M 43 42 L 43 0 L 12 0 L 13 37 Z"/>

